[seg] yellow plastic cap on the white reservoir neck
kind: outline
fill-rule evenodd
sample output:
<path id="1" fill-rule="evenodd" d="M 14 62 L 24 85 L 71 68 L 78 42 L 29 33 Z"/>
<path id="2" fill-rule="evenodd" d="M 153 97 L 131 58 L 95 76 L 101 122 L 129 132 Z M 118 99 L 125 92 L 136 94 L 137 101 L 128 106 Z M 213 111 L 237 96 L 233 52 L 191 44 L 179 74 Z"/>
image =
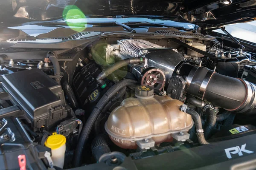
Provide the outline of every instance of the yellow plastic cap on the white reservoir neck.
<path id="1" fill-rule="evenodd" d="M 64 144 L 66 144 L 66 137 L 57 133 L 52 133 L 44 143 L 46 147 L 51 149 L 58 149 Z"/>

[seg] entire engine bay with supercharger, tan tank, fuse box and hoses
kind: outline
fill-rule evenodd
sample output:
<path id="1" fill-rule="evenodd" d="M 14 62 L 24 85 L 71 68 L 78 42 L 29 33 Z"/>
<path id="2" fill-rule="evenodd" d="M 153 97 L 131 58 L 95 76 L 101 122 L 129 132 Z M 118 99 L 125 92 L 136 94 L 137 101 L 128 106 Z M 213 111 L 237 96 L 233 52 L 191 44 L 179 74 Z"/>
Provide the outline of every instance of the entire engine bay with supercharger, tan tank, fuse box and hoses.
<path id="1" fill-rule="evenodd" d="M 68 50 L 8 40 L 21 44 L 0 51 L 0 159 L 8 169 L 16 155 L 32 169 L 116 167 L 255 134 L 254 54 L 191 31 L 131 34 L 62 37 L 77 41 Z M 65 144 L 58 154 L 56 135 Z"/>

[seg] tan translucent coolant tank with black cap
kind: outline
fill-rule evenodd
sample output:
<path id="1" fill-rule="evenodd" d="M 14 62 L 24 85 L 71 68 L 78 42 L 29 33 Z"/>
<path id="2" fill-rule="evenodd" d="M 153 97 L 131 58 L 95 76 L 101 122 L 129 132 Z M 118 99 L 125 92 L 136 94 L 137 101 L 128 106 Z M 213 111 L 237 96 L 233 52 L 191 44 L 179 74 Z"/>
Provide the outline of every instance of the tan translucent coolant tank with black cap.
<path id="1" fill-rule="evenodd" d="M 105 130 L 119 147 L 134 149 L 138 141 L 145 139 L 159 144 L 193 126 L 191 116 L 179 109 L 182 102 L 145 92 L 147 89 L 139 86 L 135 92 L 137 98 L 123 100 L 108 117 Z"/>

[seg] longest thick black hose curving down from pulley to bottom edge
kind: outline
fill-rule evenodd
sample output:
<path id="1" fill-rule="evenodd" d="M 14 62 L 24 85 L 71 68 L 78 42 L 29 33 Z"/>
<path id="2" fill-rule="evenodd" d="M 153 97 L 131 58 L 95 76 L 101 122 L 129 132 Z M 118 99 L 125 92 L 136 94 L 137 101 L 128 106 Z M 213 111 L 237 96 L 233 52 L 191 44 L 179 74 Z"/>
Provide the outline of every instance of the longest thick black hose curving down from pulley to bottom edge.
<path id="1" fill-rule="evenodd" d="M 102 108 L 105 107 L 106 103 L 109 102 L 109 100 L 122 88 L 126 86 L 135 86 L 137 85 L 137 82 L 131 79 L 123 79 L 113 85 L 109 90 L 102 96 L 102 98 L 99 100 L 99 102 L 96 104 L 95 108 L 93 109 L 92 113 L 90 114 L 86 124 L 83 127 L 83 130 L 81 132 L 79 142 L 76 147 L 76 153 L 74 155 L 74 166 L 78 167 L 80 164 L 81 154 L 84 147 L 84 144 L 86 144 L 90 132 L 93 128 L 93 124 L 96 120 L 96 118 L 99 116 L 99 113 L 101 112 Z"/>

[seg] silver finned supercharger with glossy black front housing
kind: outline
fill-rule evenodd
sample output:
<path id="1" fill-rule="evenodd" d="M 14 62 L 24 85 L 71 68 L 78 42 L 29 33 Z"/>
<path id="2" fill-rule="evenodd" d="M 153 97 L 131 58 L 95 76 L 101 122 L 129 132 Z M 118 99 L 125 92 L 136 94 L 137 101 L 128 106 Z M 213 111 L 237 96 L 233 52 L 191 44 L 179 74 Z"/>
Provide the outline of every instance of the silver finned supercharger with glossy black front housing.
<path id="1" fill-rule="evenodd" d="M 106 48 L 106 60 L 120 60 L 132 57 L 147 58 L 146 65 L 133 65 L 131 72 L 139 79 L 145 68 L 158 68 L 165 74 L 167 80 L 172 77 L 173 71 L 184 57 L 177 53 L 175 48 L 166 48 L 147 40 L 124 39 L 117 41 L 115 45 Z M 147 80 L 148 81 L 148 80 Z M 152 84 L 153 83 L 153 84 Z M 154 85 L 155 82 L 150 84 Z"/>

